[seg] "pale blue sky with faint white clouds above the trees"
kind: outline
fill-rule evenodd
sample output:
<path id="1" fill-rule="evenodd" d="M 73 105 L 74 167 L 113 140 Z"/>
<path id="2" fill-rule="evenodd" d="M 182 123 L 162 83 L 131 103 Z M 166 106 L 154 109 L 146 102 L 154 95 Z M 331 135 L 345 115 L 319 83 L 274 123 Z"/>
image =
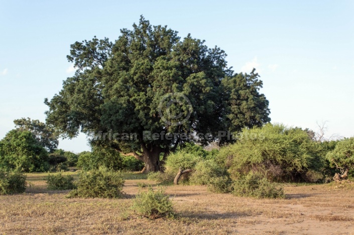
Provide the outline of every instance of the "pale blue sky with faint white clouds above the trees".
<path id="1" fill-rule="evenodd" d="M 235 72 L 257 69 L 272 122 L 354 135 L 354 1 L 0 1 L 0 139 L 21 117 L 45 120 L 73 75 L 76 41 L 131 29 L 140 15 L 217 45 Z M 84 135 L 60 148 L 88 150 Z"/>

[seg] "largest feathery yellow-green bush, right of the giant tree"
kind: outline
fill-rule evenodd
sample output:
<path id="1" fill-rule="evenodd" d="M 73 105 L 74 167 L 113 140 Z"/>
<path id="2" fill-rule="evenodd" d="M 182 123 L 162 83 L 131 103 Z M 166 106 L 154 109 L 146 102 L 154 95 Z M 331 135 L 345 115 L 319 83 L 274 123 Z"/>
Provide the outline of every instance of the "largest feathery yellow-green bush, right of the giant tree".
<path id="1" fill-rule="evenodd" d="M 267 124 L 244 129 L 238 137 L 237 143 L 222 148 L 218 156 L 234 179 L 257 172 L 272 181 L 304 181 L 309 169 L 325 170 L 322 146 L 300 128 Z"/>

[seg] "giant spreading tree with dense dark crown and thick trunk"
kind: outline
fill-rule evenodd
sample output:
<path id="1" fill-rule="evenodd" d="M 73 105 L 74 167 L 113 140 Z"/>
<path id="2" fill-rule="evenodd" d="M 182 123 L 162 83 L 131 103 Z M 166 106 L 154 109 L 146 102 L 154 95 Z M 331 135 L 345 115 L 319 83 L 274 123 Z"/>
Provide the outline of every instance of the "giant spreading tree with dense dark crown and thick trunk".
<path id="1" fill-rule="evenodd" d="M 45 100 L 47 123 L 69 138 L 80 131 L 92 139 L 111 132 L 113 139 L 92 144 L 144 161 L 147 172 L 160 170 L 179 144 L 220 141 L 218 131 L 270 121 L 258 74 L 235 74 L 225 57 L 217 47 L 190 35 L 181 39 L 167 26 L 152 26 L 141 17 L 114 43 L 94 37 L 71 45 L 67 58 L 77 71 L 59 94 Z M 196 133 L 210 134 L 201 138 Z"/>

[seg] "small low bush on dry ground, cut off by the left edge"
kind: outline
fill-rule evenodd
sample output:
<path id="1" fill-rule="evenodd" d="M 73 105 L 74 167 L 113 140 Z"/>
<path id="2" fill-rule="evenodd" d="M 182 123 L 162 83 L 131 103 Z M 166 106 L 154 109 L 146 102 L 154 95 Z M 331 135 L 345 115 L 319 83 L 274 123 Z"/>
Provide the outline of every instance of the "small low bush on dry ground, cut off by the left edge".
<path id="1" fill-rule="evenodd" d="M 0 169 L 0 195 L 23 193 L 26 190 L 26 175 L 19 171 Z"/>

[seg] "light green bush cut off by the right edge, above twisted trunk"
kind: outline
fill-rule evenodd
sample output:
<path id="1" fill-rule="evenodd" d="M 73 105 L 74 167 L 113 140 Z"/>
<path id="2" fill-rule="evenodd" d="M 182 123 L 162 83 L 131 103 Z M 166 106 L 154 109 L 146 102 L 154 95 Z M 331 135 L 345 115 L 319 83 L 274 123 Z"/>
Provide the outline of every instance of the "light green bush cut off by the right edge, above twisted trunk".
<path id="1" fill-rule="evenodd" d="M 326 155 L 331 167 L 348 168 L 349 175 L 354 176 L 354 137 L 345 138 L 335 145 Z"/>

